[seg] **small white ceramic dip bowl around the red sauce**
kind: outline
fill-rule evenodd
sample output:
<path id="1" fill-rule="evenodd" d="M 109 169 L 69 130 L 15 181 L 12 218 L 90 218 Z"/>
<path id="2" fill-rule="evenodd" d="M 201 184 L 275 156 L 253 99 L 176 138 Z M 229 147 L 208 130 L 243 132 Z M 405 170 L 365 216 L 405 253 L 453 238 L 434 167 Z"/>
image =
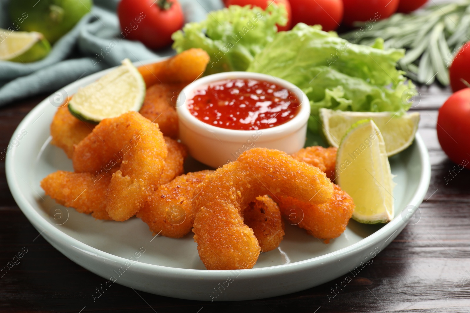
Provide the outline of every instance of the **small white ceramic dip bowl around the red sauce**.
<path id="1" fill-rule="evenodd" d="M 288 122 L 264 130 L 229 130 L 204 123 L 188 110 L 188 100 L 201 86 L 225 79 L 256 79 L 272 82 L 294 93 L 300 100 L 300 111 Z M 180 124 L 181 141 L 188 146 L 196 160 L 218 168 L 235 161 L 240 154 L 253 147 L 278 149 L 294 153 L 305 145 L 310 102 L 296 85 L 281 78 L 250 72 L 226 72 L 205 76 L 188 84 L 178 96 L 176 103 Z"/>

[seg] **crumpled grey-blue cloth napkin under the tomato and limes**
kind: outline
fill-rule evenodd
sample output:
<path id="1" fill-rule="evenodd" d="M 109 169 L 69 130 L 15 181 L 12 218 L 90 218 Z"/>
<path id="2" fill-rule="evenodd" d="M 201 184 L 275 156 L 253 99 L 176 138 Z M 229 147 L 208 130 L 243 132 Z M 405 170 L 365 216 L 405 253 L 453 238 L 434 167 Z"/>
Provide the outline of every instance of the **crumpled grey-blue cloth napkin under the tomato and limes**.
<path id="1" fill-rule="evenodd" d="M 221 0 L 179 1 L 186 23 L 201 21 L 209 11 L 223 8 Z M 151 51 L 138 41 L 120 39 L 121 30 L 115 13 L 118 2 L 94 0 L 92 11 L 60 38 L 44 59 L 31 63 L 0 61 L 0 106 L 53 92 L 80 77 L 119 65 L 125 58 L 138 62 L 174 53 L 171 48 Z M 1 28 L 10 26 L 7 13 L 8 0 L 0 0 Z"/>

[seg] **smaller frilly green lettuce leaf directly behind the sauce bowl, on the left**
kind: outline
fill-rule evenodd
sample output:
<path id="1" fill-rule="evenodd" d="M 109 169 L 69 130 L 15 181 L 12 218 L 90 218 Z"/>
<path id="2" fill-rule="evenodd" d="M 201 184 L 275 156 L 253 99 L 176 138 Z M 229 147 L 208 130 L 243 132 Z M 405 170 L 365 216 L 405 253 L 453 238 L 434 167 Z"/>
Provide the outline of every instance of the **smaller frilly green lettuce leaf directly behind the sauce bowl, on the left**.
<path id="1" fill-rule="evenodd" d="M 200 23 L 188 23 L 172 35 L 177 53 L 202 48 L 211 57 L 205 75 L 244 71 L 253 56 L 273 41 L 276 24 L 285 25 L 286 11 L 274 3 L 265 10 L 230 6 L 213 11 Z"/>

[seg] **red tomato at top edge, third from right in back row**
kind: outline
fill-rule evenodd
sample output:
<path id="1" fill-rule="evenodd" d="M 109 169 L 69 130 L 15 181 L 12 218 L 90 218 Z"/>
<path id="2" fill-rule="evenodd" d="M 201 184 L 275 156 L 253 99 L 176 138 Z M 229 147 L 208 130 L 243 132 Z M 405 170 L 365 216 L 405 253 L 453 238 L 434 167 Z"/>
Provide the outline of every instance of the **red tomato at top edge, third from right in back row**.
<path id="1" fill-rule="evenodd" d="M 290 0 L 292 25 L 305 23 L 320 24 L 323 31 L 334 31 L 343 19 L 341 0 Z"/>

